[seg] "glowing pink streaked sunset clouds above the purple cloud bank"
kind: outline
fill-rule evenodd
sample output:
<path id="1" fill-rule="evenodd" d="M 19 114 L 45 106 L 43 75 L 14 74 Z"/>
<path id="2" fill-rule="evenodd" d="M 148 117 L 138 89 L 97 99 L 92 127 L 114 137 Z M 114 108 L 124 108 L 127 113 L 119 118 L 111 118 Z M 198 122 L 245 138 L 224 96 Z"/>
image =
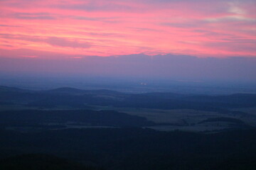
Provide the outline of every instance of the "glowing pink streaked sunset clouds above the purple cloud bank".
<path id="1" fill-rule="evenodd" d="M 0 0 L 0 57 L 256 57 L 255 0 Z"/>

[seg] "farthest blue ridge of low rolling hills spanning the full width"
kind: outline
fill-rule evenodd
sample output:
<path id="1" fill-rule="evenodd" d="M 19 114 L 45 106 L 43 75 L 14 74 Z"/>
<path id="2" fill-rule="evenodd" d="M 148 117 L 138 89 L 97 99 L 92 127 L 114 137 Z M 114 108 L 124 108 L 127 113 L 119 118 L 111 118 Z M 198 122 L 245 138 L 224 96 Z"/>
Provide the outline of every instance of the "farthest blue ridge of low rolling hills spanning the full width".
<path id="1" fill-rule="evenodd" d="M 123 108 L 191 108 L 203 111 L 223 111 L 223 108 L 249 108 L 256 106 L 256 94 L 208 96 L 174 93 L 126 94 L 107 89 L 81 90 L 70 87 L 48 91 L 31 91 L 0 86 L 0 103 L 22 103 L 33 107 L 114 106 Z"/>

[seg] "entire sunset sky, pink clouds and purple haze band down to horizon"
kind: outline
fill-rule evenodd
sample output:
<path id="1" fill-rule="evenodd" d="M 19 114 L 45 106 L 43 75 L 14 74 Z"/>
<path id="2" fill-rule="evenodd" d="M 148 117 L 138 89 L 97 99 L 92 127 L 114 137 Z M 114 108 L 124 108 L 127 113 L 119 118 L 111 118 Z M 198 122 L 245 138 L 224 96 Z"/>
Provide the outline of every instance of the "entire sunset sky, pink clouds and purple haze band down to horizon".
<path id="1" fill-rule="evenodd" d="M 0 0 L 0 74 L 256 81 L 255 0 Z"/>

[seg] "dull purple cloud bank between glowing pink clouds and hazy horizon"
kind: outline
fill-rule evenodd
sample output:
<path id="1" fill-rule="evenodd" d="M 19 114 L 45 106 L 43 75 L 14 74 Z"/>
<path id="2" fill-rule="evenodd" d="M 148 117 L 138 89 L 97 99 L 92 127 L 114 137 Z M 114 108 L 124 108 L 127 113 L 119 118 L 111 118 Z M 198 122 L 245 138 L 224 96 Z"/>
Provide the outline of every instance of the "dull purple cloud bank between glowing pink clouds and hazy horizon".
<path id="1" fill-rule="evenodd" d="M 188 55 L 138 54 L 119 57 L 92 56 L 76 60 L 0 58 L 0 73 L 12 76 L 26 74 L 33 77 L 109 77 L 142 81 L 166 79 L 202 84 L 229 81 L 256 85 L 255 66 L 255 57 L 200 58 Z"/>

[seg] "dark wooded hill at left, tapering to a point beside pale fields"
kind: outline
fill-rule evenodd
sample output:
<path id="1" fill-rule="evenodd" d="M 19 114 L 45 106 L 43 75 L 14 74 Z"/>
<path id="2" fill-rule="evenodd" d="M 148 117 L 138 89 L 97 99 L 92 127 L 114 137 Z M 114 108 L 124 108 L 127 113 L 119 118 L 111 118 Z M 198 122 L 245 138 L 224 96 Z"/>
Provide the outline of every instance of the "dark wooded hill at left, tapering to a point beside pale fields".
<path id="1" fill-rule="evenodd" d="M 117 111 L 64 110 L 64 111 L 0 111 L 1 126 L 32 128 L 67 128 L 68 125 L 101 125 L 112 127 L 154 125 L 146 118 Z"/>

